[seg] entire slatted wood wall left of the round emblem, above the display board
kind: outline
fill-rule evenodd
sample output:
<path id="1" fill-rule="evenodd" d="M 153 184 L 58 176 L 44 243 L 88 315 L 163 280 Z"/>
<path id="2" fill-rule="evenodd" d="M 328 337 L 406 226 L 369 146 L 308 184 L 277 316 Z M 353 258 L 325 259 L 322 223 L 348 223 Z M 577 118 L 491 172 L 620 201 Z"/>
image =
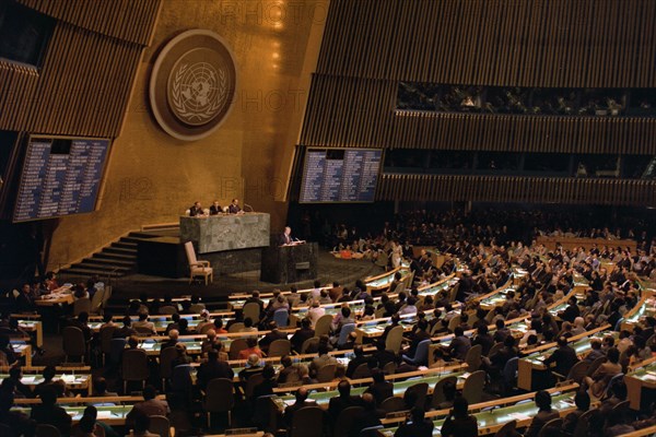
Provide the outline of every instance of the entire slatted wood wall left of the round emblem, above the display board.
<path id="1" fill-rule="evenodd" d="M 160 0 L 21 0 L 57 19 L 40 68 L 0 61 L 0 129 L 116 138 Z"/>

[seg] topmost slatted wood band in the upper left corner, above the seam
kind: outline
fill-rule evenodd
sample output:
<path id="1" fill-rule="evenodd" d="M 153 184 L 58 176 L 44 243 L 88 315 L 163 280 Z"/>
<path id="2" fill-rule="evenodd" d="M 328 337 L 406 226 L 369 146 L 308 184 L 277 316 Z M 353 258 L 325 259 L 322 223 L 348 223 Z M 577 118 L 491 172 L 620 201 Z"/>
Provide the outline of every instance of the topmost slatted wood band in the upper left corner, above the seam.
<path id="1" fill-rule="evenodd" d="M 161 0 L 15 0 L 78 27 L 114 38 L 149 44 Z"/>

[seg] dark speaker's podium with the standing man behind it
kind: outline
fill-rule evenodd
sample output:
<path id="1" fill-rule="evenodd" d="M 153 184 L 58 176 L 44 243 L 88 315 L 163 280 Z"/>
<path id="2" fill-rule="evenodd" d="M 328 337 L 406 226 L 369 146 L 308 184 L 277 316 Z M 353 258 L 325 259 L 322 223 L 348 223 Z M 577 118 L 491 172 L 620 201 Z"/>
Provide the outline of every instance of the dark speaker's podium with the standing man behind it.
<path id="1" fill-rule="evenodd" d="M 290 246 L 271 246 L 262 249 L 260 281 L 273 284 L 290 284 L 312 281 L 317 277 L 317 243 L 303 243 Z"/>

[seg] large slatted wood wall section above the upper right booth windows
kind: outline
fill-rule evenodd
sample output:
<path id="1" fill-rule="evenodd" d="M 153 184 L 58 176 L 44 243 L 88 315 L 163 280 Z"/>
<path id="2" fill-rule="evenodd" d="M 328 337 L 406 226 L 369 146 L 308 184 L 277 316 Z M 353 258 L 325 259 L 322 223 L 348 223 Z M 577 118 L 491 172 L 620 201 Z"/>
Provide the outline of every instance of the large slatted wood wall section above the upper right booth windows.
<path id="1" fill-rule="evenodd" d="M 512 86 L 656 86 L 652 0 L 333 0 L 317 72 Z"/>

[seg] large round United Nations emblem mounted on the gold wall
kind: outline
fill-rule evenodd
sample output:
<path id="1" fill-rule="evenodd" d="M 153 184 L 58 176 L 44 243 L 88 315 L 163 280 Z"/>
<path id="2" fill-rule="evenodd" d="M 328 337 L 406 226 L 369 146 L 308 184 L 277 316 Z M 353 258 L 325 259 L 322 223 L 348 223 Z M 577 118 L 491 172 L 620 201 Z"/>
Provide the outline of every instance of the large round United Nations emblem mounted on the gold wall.
<path id="1" fill-rule="evenodd" d="M 168 43 L 150 84 L 151 106 L 162 129 L 186 141 L 216 130 L 234 101 L 233 59 L 221 37 L 210 31 L 188 31 Z"/>

